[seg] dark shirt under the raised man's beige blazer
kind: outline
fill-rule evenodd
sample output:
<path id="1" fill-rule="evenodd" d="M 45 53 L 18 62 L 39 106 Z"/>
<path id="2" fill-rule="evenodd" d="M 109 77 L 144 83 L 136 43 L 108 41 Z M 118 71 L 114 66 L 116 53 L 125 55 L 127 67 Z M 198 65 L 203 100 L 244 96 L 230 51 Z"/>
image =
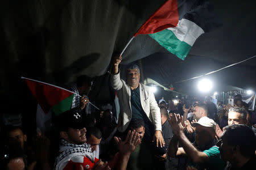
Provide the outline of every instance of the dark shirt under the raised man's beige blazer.
<path id="1" fill-rule="evenodd" d="M 135 90 L 131 90 L 131 113 L 133 118 L 140 118 L 147 120 L 146 113 L 144 113 L 141 106 L 141 97 L 139 96 L 139 86 Z"/>

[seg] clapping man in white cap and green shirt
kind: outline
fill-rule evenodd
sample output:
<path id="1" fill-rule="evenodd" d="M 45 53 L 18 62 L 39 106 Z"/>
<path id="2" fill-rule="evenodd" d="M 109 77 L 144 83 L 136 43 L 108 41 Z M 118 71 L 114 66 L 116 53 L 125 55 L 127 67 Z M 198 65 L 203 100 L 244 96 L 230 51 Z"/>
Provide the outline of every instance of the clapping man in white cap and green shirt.
<path id="1" fill-rule="evenodd" d="M 173 114 L 169 122 L 174 131 L 168 148 L 170 156 L 187 155 L 192 160 L 190 165 L 197 169 L 224 169 L 225 163 L 220 159 L 218 147 L 214 145 L 216 125 L 212 119 L 204 116 L 192 124 L 196 129 L 193 144 L 185 137 L 182 116 Z M 182 147 L 178 147 L 179 143 Z"/>

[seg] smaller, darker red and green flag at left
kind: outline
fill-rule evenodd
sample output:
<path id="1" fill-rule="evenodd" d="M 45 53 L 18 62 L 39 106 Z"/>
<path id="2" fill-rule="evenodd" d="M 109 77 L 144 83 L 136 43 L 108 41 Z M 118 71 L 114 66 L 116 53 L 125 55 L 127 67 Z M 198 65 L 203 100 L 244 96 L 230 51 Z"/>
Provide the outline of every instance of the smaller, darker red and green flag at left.
<path id="1" fill-rule="evenodd" d="M 72 91 L 54 86 L 52 84 L 39 82 L 38 80 L 24 78 L 27 86 L 35 96 L 44 113 L 53 111 L 56 116 L 71 109 L 73 96 Z"/>

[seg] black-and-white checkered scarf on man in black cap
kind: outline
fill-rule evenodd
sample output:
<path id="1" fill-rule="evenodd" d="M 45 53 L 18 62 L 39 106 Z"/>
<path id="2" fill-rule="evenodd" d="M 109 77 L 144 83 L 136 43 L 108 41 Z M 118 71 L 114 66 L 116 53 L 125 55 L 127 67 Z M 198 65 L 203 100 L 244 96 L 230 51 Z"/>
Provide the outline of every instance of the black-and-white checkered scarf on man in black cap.
<path id="1" fill-rule="evenodd" d="M 57 156 L 54 164 L 55 169 L 59 169 L 61 164 L 67 164 L 75 156 L 85 156 L 94 162 L 94 155 L 90 149 L 90 145 L 87 143 L 75 145 L 61 139 L 59 152 L 60 154 Z"/>

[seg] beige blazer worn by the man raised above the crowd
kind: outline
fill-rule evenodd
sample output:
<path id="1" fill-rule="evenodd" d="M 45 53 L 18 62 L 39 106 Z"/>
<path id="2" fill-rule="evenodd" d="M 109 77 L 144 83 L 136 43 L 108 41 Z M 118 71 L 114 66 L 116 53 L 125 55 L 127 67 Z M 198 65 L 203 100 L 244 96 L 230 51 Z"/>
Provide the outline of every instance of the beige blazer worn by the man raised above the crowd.
<path id="1" fill-rule="evenodd" d="M 131 89 L 130 86 L 122 79 L 120 74 L 111 74 L 110 84 L 117 91 L 117 96 L 120 105 L 120 114 L 122 118 L 119 131 L 125 131 L 131 121 Z M 161 114 L 158 104 L 156 103 L 154 93 L 150 91 L 150 87 L 139 83 L 139 95 L 141 105 L 147 117 L 155 126 L 155 130 L 162 131 Z"/>

